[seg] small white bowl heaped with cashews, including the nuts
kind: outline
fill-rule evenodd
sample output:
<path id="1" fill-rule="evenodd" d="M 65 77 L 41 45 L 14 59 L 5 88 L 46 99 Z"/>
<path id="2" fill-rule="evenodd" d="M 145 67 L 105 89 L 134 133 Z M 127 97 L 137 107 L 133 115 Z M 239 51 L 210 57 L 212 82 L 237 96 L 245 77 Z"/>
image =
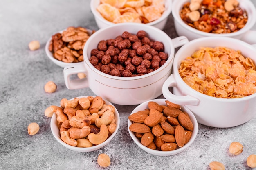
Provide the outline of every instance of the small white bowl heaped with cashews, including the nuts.
<path id="1" fill-rule="evenodd" d="M 100 96 L 80 96 L 60 106 L 49 106 L 53 112 L 51 130 L 64 147 L 77 152 L 91 152 L 108 144 L 119 128 L 115 106 Z"/>

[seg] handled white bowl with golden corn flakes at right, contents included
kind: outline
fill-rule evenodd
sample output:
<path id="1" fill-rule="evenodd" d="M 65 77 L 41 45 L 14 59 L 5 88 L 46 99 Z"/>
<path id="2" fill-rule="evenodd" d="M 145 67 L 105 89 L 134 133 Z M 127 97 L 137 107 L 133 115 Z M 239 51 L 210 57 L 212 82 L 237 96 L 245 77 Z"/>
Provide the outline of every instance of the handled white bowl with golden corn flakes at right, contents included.
<path id="1" fill-rule="evenodd" d="M 198 123 L 233 127 L 256 116 L 256 48 L 229 37 L 202 37 L 176 53 L 162 91 Z M 172 87 L 172 92 L 169 89 Z"/>

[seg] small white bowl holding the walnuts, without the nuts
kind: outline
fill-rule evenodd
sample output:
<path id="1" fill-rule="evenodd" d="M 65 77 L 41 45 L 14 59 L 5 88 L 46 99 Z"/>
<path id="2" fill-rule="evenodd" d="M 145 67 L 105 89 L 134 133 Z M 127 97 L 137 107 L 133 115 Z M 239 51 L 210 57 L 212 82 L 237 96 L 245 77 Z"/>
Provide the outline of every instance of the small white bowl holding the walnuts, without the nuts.
<path id="1" fill-rule="evenodd" d="M 87 28 L 86 28 L 86 29 L 87 29 Z M 88 30 L 88 32 L 89 32 L 90 34 L 92 33 L 92 30 L 90 30 L 90 29 L 87 29 L 87 30 Z M 62 33 L 63 31 L 64 31 L 64 30 L 59 31 L 58 33 Z M 47 40 L 47 42 L 46 42 L 46 44 L 45 44 L 45 52 L 46 52 L 47 57 L 48 57 L 52 62 L 54 62 L 56 65 L 58 65 L 58 66 L 60 66 L 60 67 L 62 67 L 62 68 L 66 67 L 66 66 L 70 66 L 70 65 L 74 65 L 74 64 L 81 63 L 81 62 L 78 62 L 78 63 L 65 63 L 65 62 L 63 62 L 63 61 L 59 61 L 59 60 L 55 59 L 55 58 L 53 57 L 52 52 L 49 51 L 49 44 L 50 44 L 50 41 L 51 41 L 51 40 L 52 40 L 52 37 L 50 37 L 50 38 Z"/>

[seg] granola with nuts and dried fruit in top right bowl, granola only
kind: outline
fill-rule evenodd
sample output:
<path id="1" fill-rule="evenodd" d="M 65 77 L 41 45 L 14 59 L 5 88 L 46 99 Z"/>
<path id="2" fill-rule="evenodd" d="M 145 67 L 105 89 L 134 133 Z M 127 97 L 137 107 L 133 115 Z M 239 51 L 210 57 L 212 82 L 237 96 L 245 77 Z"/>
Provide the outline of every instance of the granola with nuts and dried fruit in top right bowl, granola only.
<path id="1" fill-rule="evenodd" d="M 247 13 L 237 0 L 191 0 L 180 10 L 189 26 L 207 33 L 233 33 L 247 23 Z"/>

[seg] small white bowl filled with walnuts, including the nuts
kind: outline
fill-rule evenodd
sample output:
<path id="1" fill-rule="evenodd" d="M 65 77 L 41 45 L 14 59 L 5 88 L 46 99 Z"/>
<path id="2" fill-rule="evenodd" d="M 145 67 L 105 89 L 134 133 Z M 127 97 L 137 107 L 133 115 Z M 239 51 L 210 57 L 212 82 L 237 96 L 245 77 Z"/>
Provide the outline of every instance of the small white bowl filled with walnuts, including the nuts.
<path id="1" fill-rule="evenodd" d="M 47 57 L 60 67 L 83 61 L 83 47 L 95 31 L 70 26 L 48 39 L 45 45 Z"/>

